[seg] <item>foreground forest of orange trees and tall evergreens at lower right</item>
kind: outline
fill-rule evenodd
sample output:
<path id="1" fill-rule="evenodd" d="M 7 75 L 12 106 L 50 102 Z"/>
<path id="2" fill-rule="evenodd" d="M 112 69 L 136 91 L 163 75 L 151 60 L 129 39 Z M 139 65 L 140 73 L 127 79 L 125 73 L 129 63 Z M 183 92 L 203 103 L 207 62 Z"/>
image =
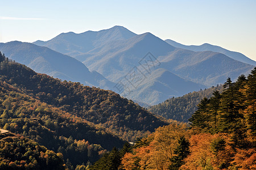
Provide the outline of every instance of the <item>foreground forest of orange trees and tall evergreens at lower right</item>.
<path id="1" fill-rule="evenodd" d="M 90 169 L 256 169 L 256 67 L 202 99 L 189 124 L 160 127 Z"/>

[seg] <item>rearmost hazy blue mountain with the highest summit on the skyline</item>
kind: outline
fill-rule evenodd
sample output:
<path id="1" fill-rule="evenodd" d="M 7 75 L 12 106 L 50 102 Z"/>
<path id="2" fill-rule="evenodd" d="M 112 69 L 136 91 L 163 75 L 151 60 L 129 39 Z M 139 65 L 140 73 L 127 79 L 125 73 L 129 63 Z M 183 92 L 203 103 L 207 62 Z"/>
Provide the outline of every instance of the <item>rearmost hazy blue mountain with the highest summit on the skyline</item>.
<path id="1" fill-rule="evenodd" d="M 35 41 L 36 45 L 47 46 L 57 52 L 69 56 L 89 52 L 98 46 L 108 44 L 110 41 L 126 40 L 136 34 L 125 27 L 115 26 L 101 31 L 86 31 L 83 33 L 61 33 L 49 41 Z"/>

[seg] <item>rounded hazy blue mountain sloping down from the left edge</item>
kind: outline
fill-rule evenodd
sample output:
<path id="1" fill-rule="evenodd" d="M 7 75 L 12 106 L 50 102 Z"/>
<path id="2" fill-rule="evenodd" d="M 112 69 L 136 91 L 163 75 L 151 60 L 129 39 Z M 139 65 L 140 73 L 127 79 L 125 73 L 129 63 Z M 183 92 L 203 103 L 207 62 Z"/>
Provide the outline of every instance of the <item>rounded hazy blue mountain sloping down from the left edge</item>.
<path id="1" fill-rule="evenodd" d="M 0 51 L 16 62 L 22 63 L 38 73 L 62 80 L 81 82 L 88 86 L 113 86 L 104 76 L 88 68 L 77 59 L 55 52 L 44 46 L 28 42 L 11 41 L 0 43 Z"/>

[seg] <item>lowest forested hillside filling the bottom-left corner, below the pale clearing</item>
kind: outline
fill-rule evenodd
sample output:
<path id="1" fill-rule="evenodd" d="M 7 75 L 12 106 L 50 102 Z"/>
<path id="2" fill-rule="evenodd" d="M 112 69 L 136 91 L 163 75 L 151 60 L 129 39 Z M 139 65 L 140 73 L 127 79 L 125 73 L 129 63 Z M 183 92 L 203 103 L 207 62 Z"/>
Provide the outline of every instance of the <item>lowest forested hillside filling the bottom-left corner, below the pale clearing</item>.
<path id="1" fill-rule="evenodd" d="M 63 155 L 13 133 L 0 134 L 0 169 L 65 169 Z"/>

